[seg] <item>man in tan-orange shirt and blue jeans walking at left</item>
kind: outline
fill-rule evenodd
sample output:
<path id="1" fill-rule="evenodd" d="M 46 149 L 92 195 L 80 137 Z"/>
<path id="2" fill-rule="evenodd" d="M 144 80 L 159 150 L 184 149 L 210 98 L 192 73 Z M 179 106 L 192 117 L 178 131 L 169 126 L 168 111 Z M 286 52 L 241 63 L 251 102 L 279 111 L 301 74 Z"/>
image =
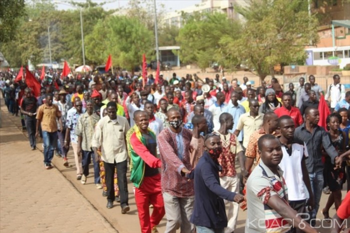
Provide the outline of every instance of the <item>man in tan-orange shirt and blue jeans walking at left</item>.
<path id="1" fill-rule="evenodd" d="M 62 130 L 61 113 L 57 105 L 52 104 L 52 94 L 46 94 L 46 102 L 41 105 L 36 114 L 36 134 L 39 136 L 39 126 L 41 125 L 42 139 L 44 145 L 44 166 L 46 169 L 51 169 L 51 160 L 53 158 L 53 150 L 57 145 L 57 121 Z"/>

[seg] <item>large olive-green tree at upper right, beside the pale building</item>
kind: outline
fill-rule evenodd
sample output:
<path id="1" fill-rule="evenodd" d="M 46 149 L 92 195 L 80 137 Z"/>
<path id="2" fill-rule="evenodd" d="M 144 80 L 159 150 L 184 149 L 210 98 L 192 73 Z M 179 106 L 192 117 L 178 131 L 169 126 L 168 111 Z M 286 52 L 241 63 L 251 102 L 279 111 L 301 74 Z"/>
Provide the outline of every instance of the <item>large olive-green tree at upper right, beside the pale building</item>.
<path id="1" fill-rule="evenodd" d="M 307 1 L 250 0 L 237 8 L 246 22 L 239 39 L 225 41 L 227 51 L 240 57 L 263 80 L 273 66 L 305 60 L 306 45 L 315 44 L 317 20 L 307 12 Z"/>

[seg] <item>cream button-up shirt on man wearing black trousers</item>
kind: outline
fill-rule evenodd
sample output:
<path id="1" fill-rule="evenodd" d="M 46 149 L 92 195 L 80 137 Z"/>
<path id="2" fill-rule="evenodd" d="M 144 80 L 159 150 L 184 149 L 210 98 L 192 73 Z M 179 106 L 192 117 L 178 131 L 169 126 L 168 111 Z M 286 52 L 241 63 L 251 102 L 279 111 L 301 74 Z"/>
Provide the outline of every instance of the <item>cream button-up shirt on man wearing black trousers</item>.
<path id="1" fill-rule="evenodd" d="M 125 117 L 116 116 L 116 122 L 109 116 L 100 119 L 92 137 L 91 146 L 102 146 L 102 160 L 106 163 L 120 163 L 126 160 L 125 136 L 130 129 Z"/>

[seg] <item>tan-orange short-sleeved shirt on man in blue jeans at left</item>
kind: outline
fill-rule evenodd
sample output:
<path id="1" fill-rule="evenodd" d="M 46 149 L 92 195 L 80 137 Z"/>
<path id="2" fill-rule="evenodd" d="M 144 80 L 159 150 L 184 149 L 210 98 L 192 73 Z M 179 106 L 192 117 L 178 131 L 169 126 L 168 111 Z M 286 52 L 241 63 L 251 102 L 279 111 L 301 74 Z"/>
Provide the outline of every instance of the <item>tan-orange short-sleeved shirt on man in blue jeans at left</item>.
<path id="1" fill-rule="evenodd" d="M 58 106 L 52 104 L 47 106 L 46 104 L 41 105 L 37 110 L 36 119 L 41 120 L 42 131 L 56 132 L 57 131 L 57 118 L 61 117 L 61 112 Z"/>

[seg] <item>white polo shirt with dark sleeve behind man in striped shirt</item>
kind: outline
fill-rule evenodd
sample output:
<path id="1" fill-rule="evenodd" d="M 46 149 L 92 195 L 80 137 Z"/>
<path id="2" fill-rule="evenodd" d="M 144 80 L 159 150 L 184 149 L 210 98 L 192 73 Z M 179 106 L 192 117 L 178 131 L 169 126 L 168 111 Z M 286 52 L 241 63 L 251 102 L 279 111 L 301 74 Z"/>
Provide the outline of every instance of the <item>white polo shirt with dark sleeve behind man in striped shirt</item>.
<path id="1" fill-rule="evenodd" d="M 288 188 L 289 201 L 301 201 L 307 198 L 302 180 L 301 160 L 307 159 L 306 144 L 295 140 L 291 144 L 291 155 L 286 147 L 282 145 L 283 158 L 279 164 L 283 171 L 283 178 Z"/>

